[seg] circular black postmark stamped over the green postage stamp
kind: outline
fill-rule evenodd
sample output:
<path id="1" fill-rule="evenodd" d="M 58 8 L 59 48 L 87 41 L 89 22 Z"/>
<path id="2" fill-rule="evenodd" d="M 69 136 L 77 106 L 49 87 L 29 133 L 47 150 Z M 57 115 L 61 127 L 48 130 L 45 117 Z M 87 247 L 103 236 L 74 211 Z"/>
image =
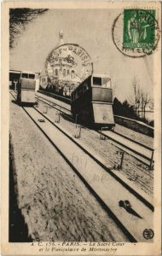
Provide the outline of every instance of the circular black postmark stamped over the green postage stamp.
<path id="1" fill-rule="evenodd" d="M 124 9 L 114 20 L 113 43 L 119 51 L 137 58 L 153 54 L 160 37 L 155 9 Z"/>

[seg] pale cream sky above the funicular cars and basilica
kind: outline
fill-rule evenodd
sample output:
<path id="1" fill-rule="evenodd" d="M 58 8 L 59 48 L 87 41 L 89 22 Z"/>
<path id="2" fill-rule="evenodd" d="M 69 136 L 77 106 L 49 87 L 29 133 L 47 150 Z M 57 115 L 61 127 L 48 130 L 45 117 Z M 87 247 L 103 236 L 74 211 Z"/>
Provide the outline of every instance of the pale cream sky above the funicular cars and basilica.
<path id="1" fill-rule="evenodd" d="M 130 58 L 113 44 L 113 21 L 121 9 L 49 9 L 26 26 L 10 49 L 9 68 L 44 73 L 49 52 L 64 33 L 65 44 L 79 44 L 90 55 L 94 73 L 107 74 L 115 85 L 119 101 L 133 94 L 132 80 L 136 77 L 143 90 L 153 96 L 153 55 Z"/>

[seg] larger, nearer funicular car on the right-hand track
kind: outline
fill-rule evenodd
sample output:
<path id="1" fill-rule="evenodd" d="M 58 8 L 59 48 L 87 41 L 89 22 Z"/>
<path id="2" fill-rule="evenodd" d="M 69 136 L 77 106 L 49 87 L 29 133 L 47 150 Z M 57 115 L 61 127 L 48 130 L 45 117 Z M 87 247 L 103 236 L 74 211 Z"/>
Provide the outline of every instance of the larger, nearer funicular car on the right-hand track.
<path id="1" fill-rule="evenodd" d="M 113 93 L 111 78 L 106 75 L 90 75 L 72 91 L 72 114 L 84 124 L 112 129 Z"/>

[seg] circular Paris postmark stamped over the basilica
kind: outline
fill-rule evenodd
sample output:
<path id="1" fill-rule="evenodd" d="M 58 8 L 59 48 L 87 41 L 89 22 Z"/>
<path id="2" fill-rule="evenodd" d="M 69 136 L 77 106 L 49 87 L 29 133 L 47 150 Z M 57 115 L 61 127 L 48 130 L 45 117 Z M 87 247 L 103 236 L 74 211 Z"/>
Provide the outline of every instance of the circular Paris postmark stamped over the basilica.
<path id="1" fill-rule="evenodd" d="M 52 49 L 46 59 L 45 68 L 51 79 L 68 79 L 70 73 L 75 73 L 79 82 L 93 73 L 90 55 L 78 44 L 61 44 Z"/>

